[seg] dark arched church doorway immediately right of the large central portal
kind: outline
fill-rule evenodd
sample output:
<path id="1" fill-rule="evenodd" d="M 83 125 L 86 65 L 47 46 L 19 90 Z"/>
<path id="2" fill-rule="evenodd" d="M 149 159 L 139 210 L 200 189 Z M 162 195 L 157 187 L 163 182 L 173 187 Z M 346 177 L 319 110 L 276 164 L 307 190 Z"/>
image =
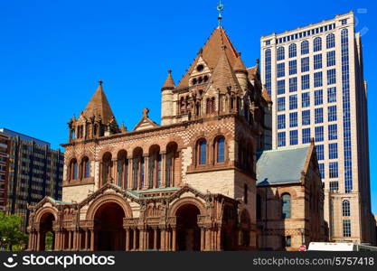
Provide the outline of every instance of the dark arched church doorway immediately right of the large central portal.
<path id="1" fill-rule="evenodd" d="M 176 211 L 178 250 L 200 250 L 201 231 L 198 226 L 199 214 L 200 210 L 193 204 L 185 204 Z"/>

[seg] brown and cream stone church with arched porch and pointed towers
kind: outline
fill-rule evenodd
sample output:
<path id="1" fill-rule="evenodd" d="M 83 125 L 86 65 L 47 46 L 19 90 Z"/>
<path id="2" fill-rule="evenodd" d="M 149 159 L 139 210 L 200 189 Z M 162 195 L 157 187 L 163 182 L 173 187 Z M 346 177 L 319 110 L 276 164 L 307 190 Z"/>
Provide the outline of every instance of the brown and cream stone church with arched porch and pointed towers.
<path id="1" fill-rule="evenodd" d="M 30 207 L 29 250 L 44 250 L 48 232 L 53 250 L 263 248 L 272 229 L 268 234 L 257 224 L 256 166 L 257 153 L 270 145 L 272 103 L 258 61 L 247 69 L 219 26 L 177 85 L 169 70 L 161 97 L 161 125 L 144 109 L 127 131 L 99 82 L 80 117 L 69 122 L 62 201 L 46 197 Z M 304 158 L 320 191 L 313 152 Z M 298 185 L 300 202 L 307 193 L 302 174 L 306 180 L 300 172 L 291 184 Z"/>

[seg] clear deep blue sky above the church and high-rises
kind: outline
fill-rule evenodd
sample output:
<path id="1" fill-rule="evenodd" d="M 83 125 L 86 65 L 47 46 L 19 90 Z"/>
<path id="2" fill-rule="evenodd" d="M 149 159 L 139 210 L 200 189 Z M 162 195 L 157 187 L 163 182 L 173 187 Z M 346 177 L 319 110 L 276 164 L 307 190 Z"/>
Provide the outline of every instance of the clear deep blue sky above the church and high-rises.
<path id="1" fill-rule="evenodd" d="M 372 205 L 377 212 L 375 1 L 223 4 L 223 26 L 247 66 L 259 58 L 260 36 L 355 12 L 357 30 L 367 30 L 363 57 L 369 85 Z M 166 70 L 173 70 L 175 82 L 181 79 L 217 26 L 216 5 L 216 0 L 1 1 L 0 127 L 57 148 L 67 141 L 67 122 L 84 109 L 99 79 L 119 124 L 124 120 L 132 129 L 144 107 L 159 122 Z M 358 14 L 359 9 L 366 13 Z"/>

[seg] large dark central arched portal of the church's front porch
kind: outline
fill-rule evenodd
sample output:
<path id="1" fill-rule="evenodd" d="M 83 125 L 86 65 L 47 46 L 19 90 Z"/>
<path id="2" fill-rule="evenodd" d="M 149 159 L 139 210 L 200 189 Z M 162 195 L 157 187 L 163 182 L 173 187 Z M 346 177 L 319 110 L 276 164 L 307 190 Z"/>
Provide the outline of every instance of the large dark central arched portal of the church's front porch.
<path id="1" fill-rule="evenodd" d="M 125 212 L 115 202 L 104 203 L 94 216 L 95 250 L 125 250 Z"/>

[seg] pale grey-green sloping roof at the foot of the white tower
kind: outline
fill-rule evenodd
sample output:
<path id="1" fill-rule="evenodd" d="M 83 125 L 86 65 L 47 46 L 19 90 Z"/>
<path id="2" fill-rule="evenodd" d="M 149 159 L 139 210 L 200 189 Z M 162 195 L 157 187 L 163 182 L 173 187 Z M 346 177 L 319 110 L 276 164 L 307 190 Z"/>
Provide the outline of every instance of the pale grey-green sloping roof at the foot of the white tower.
<path id="1" fill-rule="evenodd" d="M 284 148 L 259 153 L 257 185 L 301 182 L 310 146 Z"/>

